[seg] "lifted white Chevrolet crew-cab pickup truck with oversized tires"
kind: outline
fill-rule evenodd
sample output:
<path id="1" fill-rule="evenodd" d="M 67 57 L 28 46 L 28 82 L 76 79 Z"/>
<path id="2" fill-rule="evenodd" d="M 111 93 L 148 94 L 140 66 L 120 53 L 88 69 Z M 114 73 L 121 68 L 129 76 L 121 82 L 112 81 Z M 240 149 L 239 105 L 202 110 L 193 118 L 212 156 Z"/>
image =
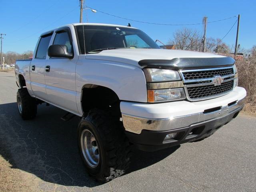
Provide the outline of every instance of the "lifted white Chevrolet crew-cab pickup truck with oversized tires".
<path id="1" fill-rule="evenodd" d="M 163 50 L 144 32 L 68 24 L 42 34 L 32 60 L 15 66 L 18 112 L 46 102 L 81 117 L 78 146 L 94 178 L 109 181 L 130 162 L 130 144 L 154 151 L 211 136 L 235 118 L 246 91 L 234 60 Z"/>

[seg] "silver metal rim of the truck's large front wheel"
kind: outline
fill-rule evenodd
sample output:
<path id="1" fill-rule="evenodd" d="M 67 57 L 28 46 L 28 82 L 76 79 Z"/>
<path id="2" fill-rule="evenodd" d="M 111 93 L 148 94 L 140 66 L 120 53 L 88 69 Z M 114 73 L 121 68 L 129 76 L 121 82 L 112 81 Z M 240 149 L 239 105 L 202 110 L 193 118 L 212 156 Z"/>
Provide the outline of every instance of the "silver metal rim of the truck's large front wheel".
<path id="1" fill-rule="evenodd" d="M 88 129 L 84 129 L 80 142 L 84 159 L 90 167 L 95 168 L 100 161 L 100 152 L 94 135 Z"/>

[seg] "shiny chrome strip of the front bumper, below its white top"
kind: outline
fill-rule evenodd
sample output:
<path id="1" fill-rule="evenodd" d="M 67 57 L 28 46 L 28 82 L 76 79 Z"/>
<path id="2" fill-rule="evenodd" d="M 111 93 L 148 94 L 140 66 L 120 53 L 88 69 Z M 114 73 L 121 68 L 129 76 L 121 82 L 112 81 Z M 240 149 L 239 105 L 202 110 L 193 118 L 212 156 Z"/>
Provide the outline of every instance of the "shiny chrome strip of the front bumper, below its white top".
<path id="1" fill-rule="evenodd" d="M 128 132 L 135 134 L 140 134 L 142 130 L 152 130 L 152 131 L 166 131 L 174 130 L 178 128 L 184 128 L 196 124 L 199 122 L 204 122 L 208 120 L 214 120 L 216 118 L 223 118 L 234 112 L 239 112 L 244 106 L 244 100 L 237 100 L 236 102 L 230 103 L 228 106 L 220 106 L 219 108 L 206 109 L 204 112 L 190 114 L 185 116 L 178 116 L 174 118 L 164 118 L 164 119 L 148 119 L 138 116 L 131 116 L 127 114 L 122 114 L 122 121 L 124 128 Z M 212 112 L 208 112 L 212 111 Z"/>

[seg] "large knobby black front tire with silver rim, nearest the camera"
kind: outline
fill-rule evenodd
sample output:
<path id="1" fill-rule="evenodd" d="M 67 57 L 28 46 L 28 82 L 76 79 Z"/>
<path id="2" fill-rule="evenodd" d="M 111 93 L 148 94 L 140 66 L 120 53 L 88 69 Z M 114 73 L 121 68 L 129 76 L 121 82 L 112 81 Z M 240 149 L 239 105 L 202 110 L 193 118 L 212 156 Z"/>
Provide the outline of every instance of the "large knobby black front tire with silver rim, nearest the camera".
<path id="1" fill-rule="evenodd" d="M 93 109 L 78 125 L 78 146 L 89 174 L 107 182 L 124 174 L 130 163 L 130 144 L 120 121 Z"/>

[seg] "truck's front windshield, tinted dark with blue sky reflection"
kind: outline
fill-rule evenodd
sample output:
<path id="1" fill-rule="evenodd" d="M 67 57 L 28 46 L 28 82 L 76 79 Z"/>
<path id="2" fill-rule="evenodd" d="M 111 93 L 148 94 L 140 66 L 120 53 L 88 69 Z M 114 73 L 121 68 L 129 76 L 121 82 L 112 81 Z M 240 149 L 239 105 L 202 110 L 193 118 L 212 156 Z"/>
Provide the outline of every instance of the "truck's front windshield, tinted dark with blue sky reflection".
<path id="1" fill-rule="evenodd" d="M 84 44 L 86 53 L 97 53 L 102 50 L 116 48 L 160 49 L 147 34 L 138 29 L 116 26 L 84 25 L 83 30 L 82 25 L 75 27 L 80 54 L 84 54 Z"/>

